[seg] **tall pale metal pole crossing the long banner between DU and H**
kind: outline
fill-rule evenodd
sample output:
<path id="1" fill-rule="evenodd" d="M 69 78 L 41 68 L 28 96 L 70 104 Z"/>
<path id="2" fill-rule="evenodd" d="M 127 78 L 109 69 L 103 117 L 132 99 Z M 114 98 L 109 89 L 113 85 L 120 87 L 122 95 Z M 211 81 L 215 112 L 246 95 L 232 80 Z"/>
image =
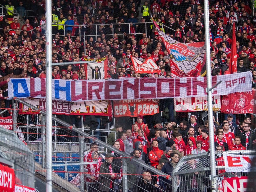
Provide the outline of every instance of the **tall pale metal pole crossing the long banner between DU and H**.
<path id="1" fill-rule="evenodd" d="M 51 1 L 46 0 L 46 192 L 52 192 L 52 15 Z"/>

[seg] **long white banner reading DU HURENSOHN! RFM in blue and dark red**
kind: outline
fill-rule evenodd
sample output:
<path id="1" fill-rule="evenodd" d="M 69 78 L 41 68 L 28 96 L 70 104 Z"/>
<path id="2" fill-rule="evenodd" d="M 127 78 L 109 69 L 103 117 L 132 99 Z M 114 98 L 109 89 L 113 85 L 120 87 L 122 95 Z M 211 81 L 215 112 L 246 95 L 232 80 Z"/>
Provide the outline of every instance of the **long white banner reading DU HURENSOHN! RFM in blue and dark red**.
<path id="1" fill-rule="evenodd" d="M 251 91 L 252 73 L 212 76 L 213 95 Z M 206 77 L 187 78 L 129 78 L 109 80 L 52 80 L 52 98 L 64 101 L 96 101 L 120 99 L 163 99 L 206 96 Z M 45 79 L 11 79 L 8 99 L 45 98 Z"/>

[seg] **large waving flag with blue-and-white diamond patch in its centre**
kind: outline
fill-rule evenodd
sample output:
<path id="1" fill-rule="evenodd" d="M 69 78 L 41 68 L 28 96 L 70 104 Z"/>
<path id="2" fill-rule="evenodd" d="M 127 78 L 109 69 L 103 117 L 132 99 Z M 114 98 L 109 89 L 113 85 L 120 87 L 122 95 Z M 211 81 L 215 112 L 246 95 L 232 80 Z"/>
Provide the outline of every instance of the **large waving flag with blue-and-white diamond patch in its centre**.
<path id="1" fill-rule="evenodd" d="M 195 70 L 198 71 L 200 69 L 201 71 L 201 68 L 205 64 L 204 42 L 189 44 L 180 43 L 159 30 L 159 27 L 155 22 L 154 24 L 158 29 L 158 34 L 161 36 L 168 54 L 170 55 L 172 77 L 188 77 L 188 75 L 194 74 L 193 71 Z"/>

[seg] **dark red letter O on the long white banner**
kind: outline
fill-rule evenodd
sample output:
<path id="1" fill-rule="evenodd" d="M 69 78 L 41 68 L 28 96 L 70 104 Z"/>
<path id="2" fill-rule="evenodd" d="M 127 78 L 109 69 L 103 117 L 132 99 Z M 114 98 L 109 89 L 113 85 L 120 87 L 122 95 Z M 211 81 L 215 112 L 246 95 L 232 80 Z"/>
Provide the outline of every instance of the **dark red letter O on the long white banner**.
<path id="1" fill-rule="evenodd" d="M 173 87 L 174 79 L 162 79 L 161 82 L 157 81 L 157 98 L 174 97 Z"/>

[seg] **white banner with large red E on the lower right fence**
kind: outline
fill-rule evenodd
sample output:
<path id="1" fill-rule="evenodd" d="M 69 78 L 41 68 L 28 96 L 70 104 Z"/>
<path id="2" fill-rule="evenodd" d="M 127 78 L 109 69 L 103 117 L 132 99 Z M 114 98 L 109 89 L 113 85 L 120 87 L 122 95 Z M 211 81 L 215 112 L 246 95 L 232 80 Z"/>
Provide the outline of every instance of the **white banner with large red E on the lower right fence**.
<path id="1" fill-rule="evenodd" d="M 223 159 L 226 172 L 249 172 L 253 156 L 223 153 Z"/>

